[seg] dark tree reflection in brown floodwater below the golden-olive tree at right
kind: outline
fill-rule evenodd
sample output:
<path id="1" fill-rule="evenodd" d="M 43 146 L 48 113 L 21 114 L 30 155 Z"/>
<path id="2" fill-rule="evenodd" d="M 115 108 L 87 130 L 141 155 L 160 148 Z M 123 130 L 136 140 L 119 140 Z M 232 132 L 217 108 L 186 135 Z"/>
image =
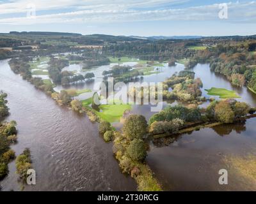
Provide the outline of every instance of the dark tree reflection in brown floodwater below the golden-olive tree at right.
<path id="1" fill-rule="evenodd" d="M 235 124 L 225 124 L 221 126 L 212 127 L 212 129 L 220 136 L 229 135 L 232 131 L 241 134 L 243 131 L 246 131 L 245 121 L 236 122 Z"/>

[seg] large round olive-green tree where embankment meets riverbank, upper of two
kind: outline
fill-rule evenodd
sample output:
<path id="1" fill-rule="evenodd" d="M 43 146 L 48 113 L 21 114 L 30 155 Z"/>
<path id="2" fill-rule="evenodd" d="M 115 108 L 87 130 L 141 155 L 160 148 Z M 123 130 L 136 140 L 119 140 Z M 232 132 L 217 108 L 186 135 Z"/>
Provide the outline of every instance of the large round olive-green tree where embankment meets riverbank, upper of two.
<path id="1" fill-rule="evenodd" d="M 125 119 L 123 132 L 129 140 L 141 139 L 147 133 L 147 120 L 143 115 L 129 115 Z"/>

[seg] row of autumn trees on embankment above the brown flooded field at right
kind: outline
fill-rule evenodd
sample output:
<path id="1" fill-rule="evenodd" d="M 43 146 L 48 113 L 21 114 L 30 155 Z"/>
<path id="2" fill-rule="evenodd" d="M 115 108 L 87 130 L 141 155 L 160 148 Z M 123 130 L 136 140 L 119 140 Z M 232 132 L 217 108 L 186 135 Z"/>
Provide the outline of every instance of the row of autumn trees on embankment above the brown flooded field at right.
<path id="1" fill-rule="evenodd" d="M 186 122 L 223 122 L 233 123 L 236 119 L 255 109 L 244 102 L 234 99 L 212 101 L 207 108 L 186 108 L 185 106 L 168 106 L 150 117 L 150 133 L 177 133 Z"/>

